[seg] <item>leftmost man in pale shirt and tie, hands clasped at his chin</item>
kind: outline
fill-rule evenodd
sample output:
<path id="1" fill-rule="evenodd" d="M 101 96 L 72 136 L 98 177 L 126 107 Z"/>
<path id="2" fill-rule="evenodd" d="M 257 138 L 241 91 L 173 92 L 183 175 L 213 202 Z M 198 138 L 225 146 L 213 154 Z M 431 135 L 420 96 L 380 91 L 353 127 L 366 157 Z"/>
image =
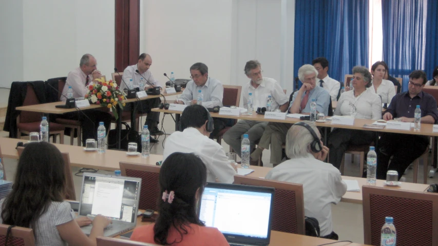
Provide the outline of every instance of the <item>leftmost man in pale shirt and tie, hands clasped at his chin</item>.
<path id="1" fill-rule="evenodd" d="M 88 85 L 92 85 L 96 79 L 102 77 L 101 72 L 97 69 L 97 60 L 90 54 L 85 54 L 81 57 L 79 68 L 75 68 L 67 75 L 67 80 L 62 91 L 62 101 L 66 101 L 68 87 L 71 86 L 73 90 L 73 97 L 84 97 L 88 92 Z M 97 139 L 97 129 L 99 122 L 103 121 L 105 129 L 109 129 L 111 124 L 111 115 L 96 109 L 83 110 L 82 113 L 72 112 L 59 115 L 58 118 L 80 120 L 82 126 L 82 145 L 85 146 L 85 141 L 88 138 Z M 86 115 L 86 116 L 84 116 Z M 73 137 L 73 133 L 70 133 Z"/>

